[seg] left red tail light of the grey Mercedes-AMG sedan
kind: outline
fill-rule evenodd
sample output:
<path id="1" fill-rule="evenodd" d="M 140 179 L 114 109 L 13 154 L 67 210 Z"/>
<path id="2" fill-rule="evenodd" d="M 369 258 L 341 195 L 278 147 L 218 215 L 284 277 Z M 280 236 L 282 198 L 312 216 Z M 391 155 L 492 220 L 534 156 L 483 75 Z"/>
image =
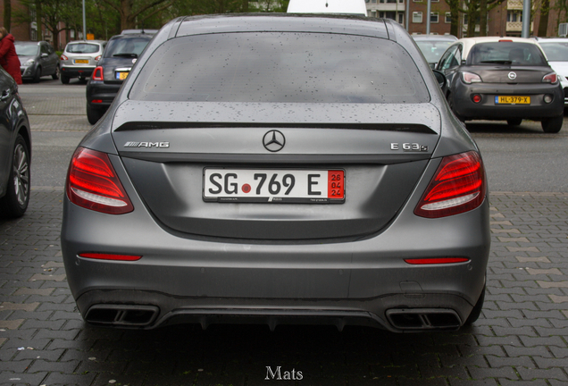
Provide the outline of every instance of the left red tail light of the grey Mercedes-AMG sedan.
<path id="1" fill-rule="evenodd" d="M 108 155 L 79 147 L 69 166 L 67 197 L 73 204 L 105 214 L 134 210 Z"/>

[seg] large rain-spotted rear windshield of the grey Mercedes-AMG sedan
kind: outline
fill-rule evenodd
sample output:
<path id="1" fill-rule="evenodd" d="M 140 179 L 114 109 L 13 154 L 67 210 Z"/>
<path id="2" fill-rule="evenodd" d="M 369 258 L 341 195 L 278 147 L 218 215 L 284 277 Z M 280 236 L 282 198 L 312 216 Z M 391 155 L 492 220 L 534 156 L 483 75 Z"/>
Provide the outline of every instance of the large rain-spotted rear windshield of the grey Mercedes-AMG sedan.
<path id="1" fill-rule="evenodd" d="M 175 38 L 140 72 L 130 98 L 153 101 L 420 103 L 412 58 L 382 38 L 290 32 Z"/>

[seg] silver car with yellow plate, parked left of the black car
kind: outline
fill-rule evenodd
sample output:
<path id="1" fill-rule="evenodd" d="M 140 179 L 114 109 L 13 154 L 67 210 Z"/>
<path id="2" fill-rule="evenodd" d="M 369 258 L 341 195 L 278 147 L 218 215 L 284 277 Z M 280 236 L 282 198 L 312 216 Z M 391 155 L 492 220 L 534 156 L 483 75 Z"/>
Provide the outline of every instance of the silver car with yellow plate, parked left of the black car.
<path id="1" fill-rule="evenodd" d="M 79 40 L 68 43 L 61 55 L 61 82 L 69 84 L 71 78 L 79 78 L 81 81 L 89 78 L 103 56 L 105 46 L 104 40 Z"/>

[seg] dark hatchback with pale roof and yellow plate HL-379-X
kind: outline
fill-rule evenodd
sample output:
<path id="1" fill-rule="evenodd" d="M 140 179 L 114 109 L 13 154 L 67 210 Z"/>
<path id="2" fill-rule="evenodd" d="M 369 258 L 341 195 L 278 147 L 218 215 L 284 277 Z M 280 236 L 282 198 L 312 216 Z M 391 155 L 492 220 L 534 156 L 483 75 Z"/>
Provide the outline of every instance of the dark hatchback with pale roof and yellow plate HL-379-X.
<path id="1" fill-rule="evenodd" d="M 531 119 L 547 133 L 562 129 L 564 91 L 532 39 L 463 38 L 447 49 L 437 69 L 447 77 L 447 101 L 462 121 L 519 125 Z"/>

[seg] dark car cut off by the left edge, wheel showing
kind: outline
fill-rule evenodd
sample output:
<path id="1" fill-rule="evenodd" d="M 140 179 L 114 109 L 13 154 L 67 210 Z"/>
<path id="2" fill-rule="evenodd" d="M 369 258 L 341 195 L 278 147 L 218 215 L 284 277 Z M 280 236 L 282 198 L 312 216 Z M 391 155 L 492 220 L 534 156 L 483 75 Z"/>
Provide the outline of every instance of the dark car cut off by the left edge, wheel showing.
<path id="1" fill-rule="evenodd" d="M 31 131 L 18 85 L 0 67 L 0 215 L 20 217 L 29 202 Z"/>

